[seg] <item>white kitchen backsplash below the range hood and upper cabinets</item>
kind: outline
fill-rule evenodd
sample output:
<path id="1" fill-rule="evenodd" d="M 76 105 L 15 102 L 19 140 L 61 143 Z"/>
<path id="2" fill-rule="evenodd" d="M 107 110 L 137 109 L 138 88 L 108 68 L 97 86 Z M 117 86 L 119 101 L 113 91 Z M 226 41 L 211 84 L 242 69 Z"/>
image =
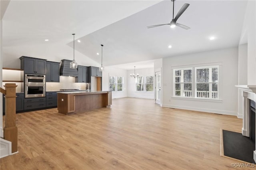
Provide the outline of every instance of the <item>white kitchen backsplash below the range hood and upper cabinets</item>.
<path id="1" fill-rule="evenodd" d="M 60 83 L 46 82 L 46 91 L 53 91 L 53 90 L 60 90 L 60 89 L 79 89 L 79 90 L 86 89 L 86 83 L 75 83 L 75 82 L 76 82 L 75 77 L 60 76 Z"/>

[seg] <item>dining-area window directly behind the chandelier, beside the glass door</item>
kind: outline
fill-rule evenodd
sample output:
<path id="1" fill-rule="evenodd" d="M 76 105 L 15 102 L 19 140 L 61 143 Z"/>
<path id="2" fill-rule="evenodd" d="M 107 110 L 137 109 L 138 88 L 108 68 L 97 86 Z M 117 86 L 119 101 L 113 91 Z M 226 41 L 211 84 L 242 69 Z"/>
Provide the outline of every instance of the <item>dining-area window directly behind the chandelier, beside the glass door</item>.
<path id="1" fill-rule="evenodd" d="M 154 77 L 153 76 L 137 77 L 136 91 L 154 91 Z"/>

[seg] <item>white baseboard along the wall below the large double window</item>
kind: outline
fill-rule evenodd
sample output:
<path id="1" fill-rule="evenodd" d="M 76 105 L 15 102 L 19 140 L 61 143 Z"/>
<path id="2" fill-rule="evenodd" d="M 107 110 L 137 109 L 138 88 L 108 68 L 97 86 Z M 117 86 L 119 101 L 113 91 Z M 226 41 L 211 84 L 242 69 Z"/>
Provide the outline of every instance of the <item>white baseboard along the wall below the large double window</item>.
<path id="1" fill-rule="evenodd" d="M 233 116 L 237 115 L 236 112 L 222 111 L 222 110 L 215 110 L 215 109 L 203 109 L 203 108 L 198 108 L 198 107 L 186 107 L 186 106 L 176 106 L 176 105 L 166 105 L 166 104 L 163 104 L 162 106 L 163 107 L 175 108 L 175 109 L 184 109 L 184 110 L 191 110 L 191 111 L 217 113 L 217 114 L 222 114 L 222 115 L 233 115 Z"/>

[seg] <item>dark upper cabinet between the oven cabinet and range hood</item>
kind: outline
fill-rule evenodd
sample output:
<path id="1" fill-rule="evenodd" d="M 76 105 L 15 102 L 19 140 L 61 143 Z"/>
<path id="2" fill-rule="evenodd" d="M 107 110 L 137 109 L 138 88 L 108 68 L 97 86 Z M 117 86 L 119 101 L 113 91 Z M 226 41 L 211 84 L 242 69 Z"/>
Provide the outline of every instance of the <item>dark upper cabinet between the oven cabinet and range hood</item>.
<path id="1" fill-rule="evenodd" d="M 46 61 L 46 82 L 60 82 L 60 63 Z"/>

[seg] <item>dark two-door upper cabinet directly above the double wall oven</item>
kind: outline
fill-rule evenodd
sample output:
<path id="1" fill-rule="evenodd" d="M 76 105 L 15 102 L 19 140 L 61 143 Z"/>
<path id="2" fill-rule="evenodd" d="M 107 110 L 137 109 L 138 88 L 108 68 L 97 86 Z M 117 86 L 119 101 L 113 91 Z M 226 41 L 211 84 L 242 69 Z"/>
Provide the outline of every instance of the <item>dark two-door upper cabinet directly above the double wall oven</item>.
<path id="1" fill-rule="evenodd" d="M 28 74 L 45 74 L 46 59 L 22 56 L 20 57 L 20 68 Z"/>

